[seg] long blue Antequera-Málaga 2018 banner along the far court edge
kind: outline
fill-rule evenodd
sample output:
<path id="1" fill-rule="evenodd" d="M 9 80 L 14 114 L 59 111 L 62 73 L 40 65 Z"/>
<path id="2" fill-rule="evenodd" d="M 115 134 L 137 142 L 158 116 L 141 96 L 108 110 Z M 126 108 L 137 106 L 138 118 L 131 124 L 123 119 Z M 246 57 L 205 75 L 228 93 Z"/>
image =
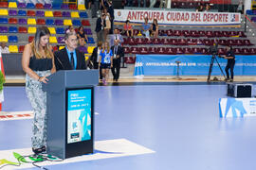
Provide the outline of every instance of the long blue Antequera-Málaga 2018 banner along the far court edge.
<path id="1" fill-rule="evenodd" d="M 134 76 L 176 76 L 179 63 L 180 76 L 207 76 L 210 67 L 210 55 L 137 55 Z M 225 72 L 227 59 L 216 58 Z M 255 76 L 256 56 L 236 56 L 234 75 Z M 220 76 L 221 70 L 214 60 L 212 76 Z"/>

